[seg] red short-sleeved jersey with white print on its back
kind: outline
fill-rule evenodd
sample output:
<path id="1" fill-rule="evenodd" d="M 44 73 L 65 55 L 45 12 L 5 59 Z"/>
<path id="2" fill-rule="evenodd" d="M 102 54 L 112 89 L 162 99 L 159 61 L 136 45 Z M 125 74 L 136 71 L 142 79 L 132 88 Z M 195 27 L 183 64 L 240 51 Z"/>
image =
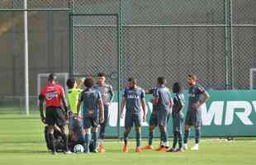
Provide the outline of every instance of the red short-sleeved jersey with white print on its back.
<path id="1" fill-rule="evenodd" d="M 64 89 L 58 83 L 48 83 L 41 89 L 40 95 L 45 97 L 46 106 L 62 106 Z"/>

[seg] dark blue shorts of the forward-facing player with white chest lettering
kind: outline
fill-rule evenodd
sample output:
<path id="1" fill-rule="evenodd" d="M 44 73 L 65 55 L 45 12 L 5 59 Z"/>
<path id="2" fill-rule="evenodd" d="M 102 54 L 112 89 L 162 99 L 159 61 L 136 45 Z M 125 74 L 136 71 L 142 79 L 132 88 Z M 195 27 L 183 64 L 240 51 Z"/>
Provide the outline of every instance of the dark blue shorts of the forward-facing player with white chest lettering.
<path id="1" fill-rule="evenodd" d="M 125 127 L 130 128 L 133 125 L 135 127 L 140 127 L 141 126 L 141 116 L 140 114 L 132 114 L 130 112 L 126 111 L 126 118 L 125 118 Z"/>

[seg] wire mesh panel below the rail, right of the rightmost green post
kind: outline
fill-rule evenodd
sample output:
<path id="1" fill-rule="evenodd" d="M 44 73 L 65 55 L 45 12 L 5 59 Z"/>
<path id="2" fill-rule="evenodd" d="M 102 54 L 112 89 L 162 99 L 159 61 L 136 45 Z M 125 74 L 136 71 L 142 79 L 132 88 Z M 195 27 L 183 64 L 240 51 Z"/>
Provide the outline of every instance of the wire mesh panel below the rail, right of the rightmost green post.
<path id="1" fill-rule="evenodd" d="M 250 68 L 256 68 L 256 26 L 233 27 L 233 68 L 237 89 L 249 89 Z"/>

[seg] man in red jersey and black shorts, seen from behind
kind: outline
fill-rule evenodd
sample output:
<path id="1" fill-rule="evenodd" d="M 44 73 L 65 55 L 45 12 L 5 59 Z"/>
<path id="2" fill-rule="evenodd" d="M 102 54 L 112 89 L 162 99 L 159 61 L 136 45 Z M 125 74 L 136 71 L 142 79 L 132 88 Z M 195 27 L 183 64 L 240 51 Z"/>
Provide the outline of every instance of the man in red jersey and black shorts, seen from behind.
<path id="1" fill-rule="evenodd" d="M 48 78 L 48 84 L 40 91 L 40 118 L 43 123 L 49 126 L 48 138 L 50 145 L 53 146 L 52 153 L 56 154 L 54 131 L 55 125 L 61 130 L 61 137 L 64 139 L 65 151 L 69 154 L 68 139 L 65 134 L 65 117 L 68 118 L 68 103 L 65 98 L 64 89 L 57 82 L 55 73 L 51 73 Z M 46 110 L 44 115 L 44 101 Z M 64 106 L 64 111 L 61 106 Z"/>

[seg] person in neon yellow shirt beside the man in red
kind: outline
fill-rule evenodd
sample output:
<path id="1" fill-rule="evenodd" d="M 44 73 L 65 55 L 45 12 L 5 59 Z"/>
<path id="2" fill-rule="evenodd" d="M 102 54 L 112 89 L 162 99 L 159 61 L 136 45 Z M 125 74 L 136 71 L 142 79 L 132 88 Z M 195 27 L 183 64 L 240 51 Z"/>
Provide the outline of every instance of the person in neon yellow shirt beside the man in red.
<path id="1" fill-rule="evenodd" d="M 78 105 L 78 97 L 81 89 L 77 88 L 77 82 L 74 78 L 69 78 L 66 82 L 66 85 L 69 88 L 67 93 L 67 98 L 70 106 L 70 114 L 69 114 L 69 139 L 73 136 L 73 128 L 76 124 L 76 116 L 77 116 L 77 105 Z"/>

